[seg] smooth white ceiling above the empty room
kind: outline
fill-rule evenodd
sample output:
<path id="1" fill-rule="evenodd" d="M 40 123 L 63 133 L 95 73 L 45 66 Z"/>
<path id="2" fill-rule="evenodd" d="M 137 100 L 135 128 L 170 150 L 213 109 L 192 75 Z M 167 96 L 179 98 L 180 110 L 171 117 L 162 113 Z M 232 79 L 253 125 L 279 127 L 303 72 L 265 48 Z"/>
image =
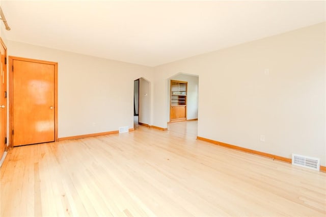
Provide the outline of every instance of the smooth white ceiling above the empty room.
<path id="1" fill-rule="evenodd" d="M 8 40 L 157 66 L 325 21 L 325 1 L 1 1 Z M 3 25 L 3 23 L 0 23 Z"/>

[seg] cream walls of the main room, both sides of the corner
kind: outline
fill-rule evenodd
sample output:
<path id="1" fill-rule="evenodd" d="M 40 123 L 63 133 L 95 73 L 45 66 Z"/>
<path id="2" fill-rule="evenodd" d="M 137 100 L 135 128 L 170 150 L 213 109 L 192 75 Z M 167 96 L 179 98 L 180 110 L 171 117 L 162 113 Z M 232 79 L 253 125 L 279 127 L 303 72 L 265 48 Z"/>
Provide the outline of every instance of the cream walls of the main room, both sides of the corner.
<path id="1" fill-rule="evenodd" d="M 149 124 L 167 127 L 168 79 L 182 72 L 200 76 L 200 137 L 326 165 L 325 23 L 155 68 L 6 45 L 9 55 L 59 63 L 59 137 L 133 127 L 139 77 L 150 81 Z"/>

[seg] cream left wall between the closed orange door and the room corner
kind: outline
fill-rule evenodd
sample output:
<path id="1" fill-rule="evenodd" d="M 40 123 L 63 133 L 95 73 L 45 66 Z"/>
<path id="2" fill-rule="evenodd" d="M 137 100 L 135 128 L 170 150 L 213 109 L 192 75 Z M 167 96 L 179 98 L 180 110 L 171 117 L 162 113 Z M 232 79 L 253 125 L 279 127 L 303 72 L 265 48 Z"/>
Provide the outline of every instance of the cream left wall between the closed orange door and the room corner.
<path id="1" fill-rule="evenodd" d="M 59 138 L 133 128 L 133 81 L 152 79 L 152 68 L 14 41 L 7 47 L 10 56 L 58 62 Z"/>

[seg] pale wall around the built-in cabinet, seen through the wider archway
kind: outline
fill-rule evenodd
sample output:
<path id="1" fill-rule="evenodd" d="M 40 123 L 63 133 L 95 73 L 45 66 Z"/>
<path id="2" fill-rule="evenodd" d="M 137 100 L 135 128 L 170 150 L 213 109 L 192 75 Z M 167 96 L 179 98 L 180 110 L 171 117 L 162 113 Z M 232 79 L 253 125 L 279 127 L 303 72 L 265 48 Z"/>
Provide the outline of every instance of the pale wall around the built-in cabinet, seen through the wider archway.
<path id="1" fill-rule="evenodd" d="M 187 82 L 187 120 L 198 118 L 198 76 L 177 74 L 168 79 L 168 107 L 169 112 L 167 121 L 170 121 L 170 86 L 171 80 L 181 80 Z"/>

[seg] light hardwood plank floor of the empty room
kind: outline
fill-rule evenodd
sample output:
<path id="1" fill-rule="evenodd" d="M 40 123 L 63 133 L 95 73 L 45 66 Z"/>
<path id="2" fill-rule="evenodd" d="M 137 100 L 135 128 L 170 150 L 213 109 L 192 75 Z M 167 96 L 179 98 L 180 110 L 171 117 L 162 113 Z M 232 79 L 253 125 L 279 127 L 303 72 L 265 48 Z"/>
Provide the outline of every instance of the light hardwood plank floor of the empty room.
<path id="1" fill-rule="evenodd" d="M 326 174 L 196 140 L 197 121 L 13 148 L 1 216 L 325 216 Z"/>

